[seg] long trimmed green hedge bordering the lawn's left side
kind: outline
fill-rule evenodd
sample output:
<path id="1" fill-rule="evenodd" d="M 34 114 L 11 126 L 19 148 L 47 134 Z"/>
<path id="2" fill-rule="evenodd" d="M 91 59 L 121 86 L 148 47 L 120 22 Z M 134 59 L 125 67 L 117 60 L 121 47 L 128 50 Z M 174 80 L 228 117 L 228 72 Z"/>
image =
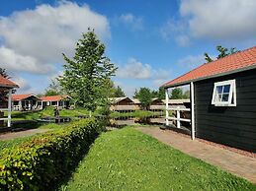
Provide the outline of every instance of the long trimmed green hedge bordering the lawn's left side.
<path id="1" fill-rule="evenodd" d="M 102 129 L 95 119 L 84 119 L 5 150 L 0 190 L 53 189 L 70 175 Z"/>

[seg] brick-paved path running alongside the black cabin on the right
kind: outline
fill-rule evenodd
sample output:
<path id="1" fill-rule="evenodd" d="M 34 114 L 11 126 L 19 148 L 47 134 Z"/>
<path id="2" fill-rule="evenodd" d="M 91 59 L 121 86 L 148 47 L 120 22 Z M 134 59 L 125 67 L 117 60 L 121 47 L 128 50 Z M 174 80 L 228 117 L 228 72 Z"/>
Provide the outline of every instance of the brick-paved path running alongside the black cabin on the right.
<path id="1" fill-rule="evenodd" d="M 237 176 L 256 183 L 256 159 L 214 147 L 212 145 L 182 136 L 170 130 L 160 130 L 159 127 L 138 127 L 139 131 L 150 135 L 157 140 L 169 145 L 194 158 L 205 160 L 219 166 Z"/>

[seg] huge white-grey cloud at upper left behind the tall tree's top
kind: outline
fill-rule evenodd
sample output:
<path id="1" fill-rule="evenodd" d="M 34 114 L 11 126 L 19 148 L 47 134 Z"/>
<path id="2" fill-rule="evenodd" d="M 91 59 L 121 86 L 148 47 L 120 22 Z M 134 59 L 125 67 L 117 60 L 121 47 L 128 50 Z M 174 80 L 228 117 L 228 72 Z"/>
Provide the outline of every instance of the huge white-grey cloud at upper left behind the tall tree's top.
<path id="1" fill-rule="evenodd" d="M 62 52 L 73 54 L 75 41 L 89 27 L 101 39 L 110 37 L 105 16 L 68 1 L 0 17 L 0 63 L 10 70 L 46 74 L 53 70 L 49 65 L 63 62 Z"/>

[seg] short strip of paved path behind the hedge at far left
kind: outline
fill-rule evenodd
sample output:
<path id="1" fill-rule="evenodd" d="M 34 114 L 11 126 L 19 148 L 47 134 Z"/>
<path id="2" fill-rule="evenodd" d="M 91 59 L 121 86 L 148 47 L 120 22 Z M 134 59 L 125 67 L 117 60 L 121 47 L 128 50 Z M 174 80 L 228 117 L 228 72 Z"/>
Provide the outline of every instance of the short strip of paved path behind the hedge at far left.
<path id="1" fill-rule="evenodd" d="M 28 136 L 36 135 L 38 133 L 47 132 L 49 130 L 50 129 L 30 129 L 26 131 L 6 133 L 6 134 L 0 135 L 0 141 L 6 141 L 6 140 L 21 138 L 21 137 L 28 137 Z"/>

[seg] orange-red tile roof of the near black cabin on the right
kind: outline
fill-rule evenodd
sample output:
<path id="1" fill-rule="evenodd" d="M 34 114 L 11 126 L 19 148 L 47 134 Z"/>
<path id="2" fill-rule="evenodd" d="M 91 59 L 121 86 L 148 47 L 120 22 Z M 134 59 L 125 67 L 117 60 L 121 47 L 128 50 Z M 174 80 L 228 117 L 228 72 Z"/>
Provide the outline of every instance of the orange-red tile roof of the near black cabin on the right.
<path id="1" fill-rule="evenodd" d="M 256 68 L 256 46 L 206 63 L 180 76 L 163 87 L 175 87 L 190 82 Z"/>

